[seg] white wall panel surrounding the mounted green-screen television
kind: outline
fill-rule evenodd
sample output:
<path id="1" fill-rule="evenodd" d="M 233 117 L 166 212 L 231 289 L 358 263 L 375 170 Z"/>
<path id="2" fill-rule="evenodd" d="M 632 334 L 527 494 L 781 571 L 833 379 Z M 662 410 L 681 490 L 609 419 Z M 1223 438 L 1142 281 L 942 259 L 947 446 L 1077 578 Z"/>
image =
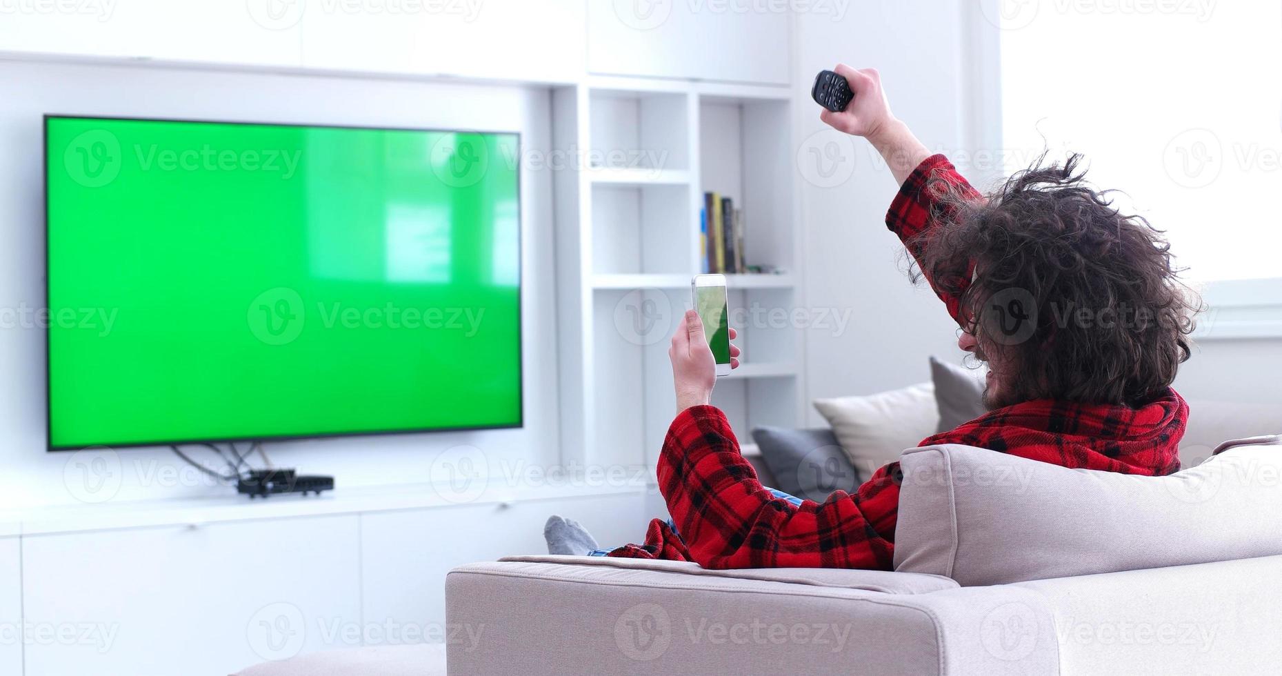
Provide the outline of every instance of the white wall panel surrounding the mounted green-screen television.
<path id="1" fill-rule="evenodd" d="M 545 89 L 35 62 L 0 62 L 0 308 L 44 303 L 45 113 L 518 131 L 527 156 L 550 144 Z M 272 443 L 277 464 L 355 486 L 427 482 L 432 461 L 456 445 L 491 463 L 556 461 L 550 181 L 522 164 L 526 427 Z M 226 495 L 168 449 L 97 453 L 105 463 L 46 453 L 44 341 L 40 328 L 0 328 L 0 507 Z"/>

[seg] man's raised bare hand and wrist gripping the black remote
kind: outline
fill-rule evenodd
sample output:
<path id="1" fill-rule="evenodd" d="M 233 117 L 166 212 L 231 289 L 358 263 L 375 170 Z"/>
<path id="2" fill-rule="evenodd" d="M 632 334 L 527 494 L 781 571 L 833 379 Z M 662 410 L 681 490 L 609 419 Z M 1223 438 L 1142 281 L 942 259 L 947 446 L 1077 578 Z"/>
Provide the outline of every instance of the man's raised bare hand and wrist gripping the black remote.
<path id="1" fill-rule="evenodd" d="M 838 63 L 833 72 L 846 78 L 855 97 L 845 110 L 833 113 L 826 109 L 819 119 L 837 131 L 868 139 L 890 165 L 895 181 L 903 183 L 923 159 L 931 156 L 931 151 L 890 112 L 881 74 L 876 69 L 856 71 Z"/>

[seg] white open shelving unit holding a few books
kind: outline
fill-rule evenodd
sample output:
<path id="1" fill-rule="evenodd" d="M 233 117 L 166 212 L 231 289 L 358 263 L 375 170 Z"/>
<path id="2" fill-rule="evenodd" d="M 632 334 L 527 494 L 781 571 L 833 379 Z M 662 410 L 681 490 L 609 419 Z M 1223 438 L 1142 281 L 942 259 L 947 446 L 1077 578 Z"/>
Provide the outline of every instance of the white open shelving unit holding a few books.
<path id="1" fill-rule="evenodd" d="M 674 413 L 668 339 L 701 271 L 705 191 L 742 209 L 746 263 L 785 271 L 727 276 L 744 359 L 713 403 L 745 443 L 753 426 L 801 419 L 790 96 L 627 77 L 554 90 L 554 145 L 586 158 L 555 178 L 567 459 L 653 468 Z"/>

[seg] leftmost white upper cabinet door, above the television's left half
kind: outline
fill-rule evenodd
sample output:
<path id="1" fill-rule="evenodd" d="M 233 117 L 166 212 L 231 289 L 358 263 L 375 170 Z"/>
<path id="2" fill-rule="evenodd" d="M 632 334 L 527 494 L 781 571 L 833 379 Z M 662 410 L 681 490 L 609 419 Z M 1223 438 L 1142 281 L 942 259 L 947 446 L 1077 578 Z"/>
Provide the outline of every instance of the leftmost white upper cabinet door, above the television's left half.
<path id="1" fill-rule="evenodd" d="M 23 3 L 15 12 L 3 12 L 0 49 L 297 67 L 295 13 L 303 5 L 301 0 Z"/>

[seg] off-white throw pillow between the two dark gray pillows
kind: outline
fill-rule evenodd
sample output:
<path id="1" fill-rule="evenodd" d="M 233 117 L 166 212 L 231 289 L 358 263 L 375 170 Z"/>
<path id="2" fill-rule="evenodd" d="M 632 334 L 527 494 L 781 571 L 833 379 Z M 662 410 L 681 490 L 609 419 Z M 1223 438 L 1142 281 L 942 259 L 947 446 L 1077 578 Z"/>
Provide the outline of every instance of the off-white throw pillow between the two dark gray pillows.
<path id="1" fill-rule="evenodd" d="M 867 396 L 815 399 L 814 408 L 828 419 L 850 463 L 865 477 L 933 435 L 940 423 L 929 382 Z"/>

